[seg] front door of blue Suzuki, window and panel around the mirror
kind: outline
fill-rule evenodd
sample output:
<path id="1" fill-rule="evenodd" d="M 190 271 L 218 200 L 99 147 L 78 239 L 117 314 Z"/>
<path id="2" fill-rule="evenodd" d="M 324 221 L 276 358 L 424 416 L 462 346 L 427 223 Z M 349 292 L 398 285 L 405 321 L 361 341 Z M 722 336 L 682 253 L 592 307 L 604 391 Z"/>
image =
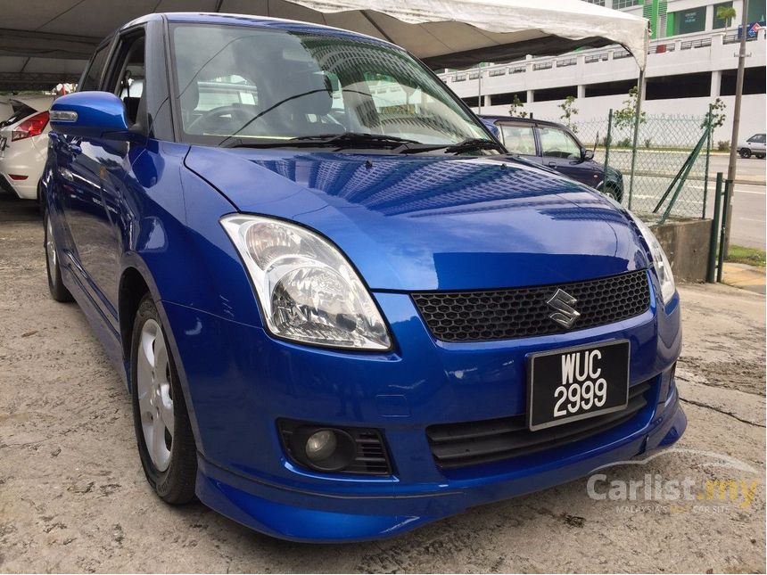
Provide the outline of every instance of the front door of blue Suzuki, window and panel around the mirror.
<path id="1" fill-rule="evenodd" d="M 103 91 L 126 104 L 136 121 L 144 90 L 144 30 L 122 34 L 103 74 Z M 105 138 L 61 136 L 66 150 L 62 166 L 70 193 L 66 219 L 74 244 L 81 283 L 97 308 L 117 330 L 120 282 L 120 206 L 130 170 L 130 145 Z"/>

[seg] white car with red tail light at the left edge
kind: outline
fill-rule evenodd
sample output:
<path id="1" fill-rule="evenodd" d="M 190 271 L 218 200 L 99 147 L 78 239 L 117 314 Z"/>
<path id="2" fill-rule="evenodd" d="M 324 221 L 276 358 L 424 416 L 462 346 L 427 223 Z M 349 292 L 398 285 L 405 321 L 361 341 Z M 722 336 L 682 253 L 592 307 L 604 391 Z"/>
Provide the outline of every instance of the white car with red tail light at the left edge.
<path id="1" fill-rule="evenodd" d="M 48 108 L 53 96 L 12 98 L 10 118 L 0 122 L 0 187 L 21 200 L 37 201 L 37 184 L 48 153 Z"/>

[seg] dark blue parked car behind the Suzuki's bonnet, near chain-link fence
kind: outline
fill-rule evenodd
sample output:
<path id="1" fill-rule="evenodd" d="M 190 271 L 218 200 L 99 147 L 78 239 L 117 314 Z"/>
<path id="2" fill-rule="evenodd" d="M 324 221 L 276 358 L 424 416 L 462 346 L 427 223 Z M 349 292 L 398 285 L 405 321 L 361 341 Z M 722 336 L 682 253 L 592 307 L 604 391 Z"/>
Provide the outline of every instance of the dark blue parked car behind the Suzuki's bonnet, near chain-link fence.
<path id="1" fill-rule="evenodd" d="M 482 116 L 509 152 L 595 188 L 619 203 L 623 201 L 623 174 L 594 161 L 588 150 L 569 127 L 540 119 L 510 116 Z"/>

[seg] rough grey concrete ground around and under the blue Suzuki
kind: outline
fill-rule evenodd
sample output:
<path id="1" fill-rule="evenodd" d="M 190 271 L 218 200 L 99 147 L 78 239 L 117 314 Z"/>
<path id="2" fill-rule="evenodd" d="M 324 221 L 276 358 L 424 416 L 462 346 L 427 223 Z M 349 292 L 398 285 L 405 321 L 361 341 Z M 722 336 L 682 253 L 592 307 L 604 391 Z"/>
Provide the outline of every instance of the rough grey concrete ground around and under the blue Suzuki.
<path id="1" fill-rule="evenodd" d="M 765 570 L 763 296 L 680 287 L 689 427 L 642 470 L 726 479 L 710 464 L 734 458 L 756 481 L 742 505 L 634 508 L 590 499 L 580 480 L 405 537 L 306 546 L 153 495 L 128 394 L 78 307 L 48 298 L 42 241 L 34 209 L 0 195 L 0 571 Z"/>

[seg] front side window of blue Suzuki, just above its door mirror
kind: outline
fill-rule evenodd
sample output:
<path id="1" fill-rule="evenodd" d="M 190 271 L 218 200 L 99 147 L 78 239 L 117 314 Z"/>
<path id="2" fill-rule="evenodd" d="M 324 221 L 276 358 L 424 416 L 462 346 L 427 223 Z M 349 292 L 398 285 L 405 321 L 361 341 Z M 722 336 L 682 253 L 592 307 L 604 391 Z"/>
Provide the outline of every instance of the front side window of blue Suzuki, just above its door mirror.
<path id="1" fill-rule="evenodd" d="M 129 33 L 120 38 L 120 48 L 110 71 L 105 90 L 120 97 L 128 112 L 128 120 L 136 123 L 144 96 L 146 66 L 144 34 Z"/>

